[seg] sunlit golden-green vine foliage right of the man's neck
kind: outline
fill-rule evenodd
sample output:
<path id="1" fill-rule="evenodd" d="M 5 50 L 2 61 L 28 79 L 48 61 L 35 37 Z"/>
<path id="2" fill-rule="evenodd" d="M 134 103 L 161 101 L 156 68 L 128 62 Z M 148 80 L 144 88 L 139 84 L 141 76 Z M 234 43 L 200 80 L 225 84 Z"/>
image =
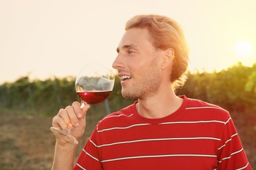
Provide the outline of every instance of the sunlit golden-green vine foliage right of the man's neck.
<path id="1" fill-rule="evenodd" d="M 178 95 L 202 99 L 229 111 L 256 107 L 256 64 L 245 67 L 237 63 L 220 72 L 195 73 L 188 77 Z"/>

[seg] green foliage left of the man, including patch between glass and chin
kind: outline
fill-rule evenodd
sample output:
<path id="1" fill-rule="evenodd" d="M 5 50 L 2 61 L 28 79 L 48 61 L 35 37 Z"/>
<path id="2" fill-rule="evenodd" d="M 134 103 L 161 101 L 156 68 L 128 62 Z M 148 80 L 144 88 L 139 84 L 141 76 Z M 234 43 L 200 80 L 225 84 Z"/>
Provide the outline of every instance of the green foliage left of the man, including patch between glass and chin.
<path id="1" fill-rule="evenodd" d="M 0 86 L 0 108 L 20 110 L 28 114 L 43 113 L 54 115 L 60 108 L 72 105 L 73 101 L 79 101 L 75 93 L 75 77 L 52 78 L 47 80 L 30 81 L 28 76 L 5 83 Z M 121 84 L 118 76 L 114 90 L 108 98 L 108 104 L 98 105 L 98 109 L 91 112 L 102 112 L 104 115 L 110 111 L 117 111 L 133 103 L 135 99 L 123 99 Z"/>

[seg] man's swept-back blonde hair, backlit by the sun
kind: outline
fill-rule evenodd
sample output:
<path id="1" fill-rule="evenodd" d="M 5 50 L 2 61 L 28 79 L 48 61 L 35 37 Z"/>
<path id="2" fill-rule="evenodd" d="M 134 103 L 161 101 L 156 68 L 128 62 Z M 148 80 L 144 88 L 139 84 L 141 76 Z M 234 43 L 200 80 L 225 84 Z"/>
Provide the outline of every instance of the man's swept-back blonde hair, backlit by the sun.
<path id="1" fill-rule="evenodd" d="M 156 14 L 137 15 L 127 21 L 125 31 L 133 27 L 147 28 L 152 45 L 161 50 L 173 48 L 175 58 L 171 73 L 173 90 L 182 88 L 187 79 L 188 44 L 178 22 Z"/>

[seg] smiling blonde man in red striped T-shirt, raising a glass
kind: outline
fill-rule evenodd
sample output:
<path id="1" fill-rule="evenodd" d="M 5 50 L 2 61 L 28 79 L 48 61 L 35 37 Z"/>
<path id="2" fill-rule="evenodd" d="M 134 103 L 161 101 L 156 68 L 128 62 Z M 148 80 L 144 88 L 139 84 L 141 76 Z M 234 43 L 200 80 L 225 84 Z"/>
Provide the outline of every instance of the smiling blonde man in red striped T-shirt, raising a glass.
<path id="1" fill-rule="evenodd" d="M 188 46 L 179 24 L 166 16 L 129 20 L 113 67 L 122 95 L 133 105 L 103 118 L 74 169 L 251 169 L 230 114 L 175 90 L 186 80 Z M 85 114 L 78 102 L 61 109 L 53 126 L 79 140 Z M 58 137 L 53 169 L 72 169 L 75 144 Z"/>

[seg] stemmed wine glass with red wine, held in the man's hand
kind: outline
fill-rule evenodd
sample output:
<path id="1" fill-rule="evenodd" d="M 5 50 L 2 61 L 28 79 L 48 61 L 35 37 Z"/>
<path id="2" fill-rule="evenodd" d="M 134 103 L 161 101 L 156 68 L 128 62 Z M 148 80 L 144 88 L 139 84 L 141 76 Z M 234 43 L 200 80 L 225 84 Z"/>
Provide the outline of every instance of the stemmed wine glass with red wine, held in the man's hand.
<path id="1" fill-rule="evenodd" d="M 75 92 L 81 99 L 81 108 L 86 104 L 95 105 L 105 101 L 113 90 L 114 74 L 97 63 L 89 63 L 81 69 L 75 80 Z M 51 127 L 51 131 L 62 139 L 78 144 L 78 141 L 70 135 L 70 128 L 61 130 Z"/>

